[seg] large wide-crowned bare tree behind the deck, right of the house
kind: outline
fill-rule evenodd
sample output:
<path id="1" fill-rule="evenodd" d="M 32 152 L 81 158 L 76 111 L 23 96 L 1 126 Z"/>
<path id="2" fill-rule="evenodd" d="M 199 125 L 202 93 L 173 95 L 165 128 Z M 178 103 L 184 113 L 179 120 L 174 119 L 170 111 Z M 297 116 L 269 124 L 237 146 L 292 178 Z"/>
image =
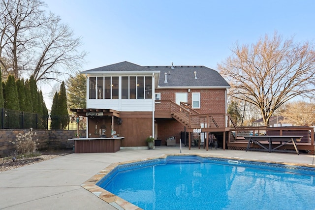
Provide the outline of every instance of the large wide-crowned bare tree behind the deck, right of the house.
<path id="1" fill-rule="evenodd" d="M 314 97 L 315 53 L 309 42 L 294 43 L 274 33 L 256 44 L 236 44 L 233 55 L 219 64 L 233 98 L 258 107 L 265 125 L 273 113 L 296 96 Z"/>

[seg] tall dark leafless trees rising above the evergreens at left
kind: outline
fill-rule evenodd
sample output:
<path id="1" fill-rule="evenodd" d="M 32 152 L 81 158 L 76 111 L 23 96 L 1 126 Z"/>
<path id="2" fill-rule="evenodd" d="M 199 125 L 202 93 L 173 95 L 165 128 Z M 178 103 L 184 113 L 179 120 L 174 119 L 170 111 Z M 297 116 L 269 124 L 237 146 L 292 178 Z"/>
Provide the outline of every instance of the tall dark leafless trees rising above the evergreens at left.
<path id="1" fill-rule="evenodd" d="M 15 78 L 33 76 L 35 81 L 59 79 L 84 62 L 80 38 L 53 13 L 46 15 L 40 0 L 1 0 L 0 64 Z M 7 62 L 9 61 L 9 62 Z"/>

